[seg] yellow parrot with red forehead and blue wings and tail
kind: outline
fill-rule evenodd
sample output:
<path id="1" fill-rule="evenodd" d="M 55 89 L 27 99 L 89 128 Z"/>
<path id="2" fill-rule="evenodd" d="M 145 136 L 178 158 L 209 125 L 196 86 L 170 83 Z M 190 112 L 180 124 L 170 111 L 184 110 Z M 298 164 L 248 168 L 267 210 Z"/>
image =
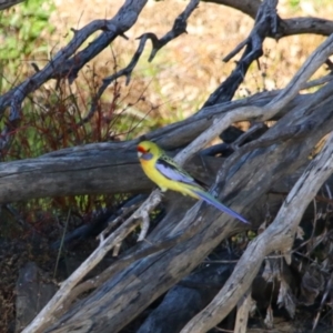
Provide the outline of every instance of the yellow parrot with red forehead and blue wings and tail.
<path id="1" fill-rule="evenodd" d="M 250 223 L 242 215 L 228 208 L 195 181 L 185 170 L 167 155 L 167 153 L 152 141 L 142 141 L 138 144 L 138 158 L 145 175 L 152 180 L 162 192 L 173 190 L 198 200 L 203 200 L 218 210 Z"/>

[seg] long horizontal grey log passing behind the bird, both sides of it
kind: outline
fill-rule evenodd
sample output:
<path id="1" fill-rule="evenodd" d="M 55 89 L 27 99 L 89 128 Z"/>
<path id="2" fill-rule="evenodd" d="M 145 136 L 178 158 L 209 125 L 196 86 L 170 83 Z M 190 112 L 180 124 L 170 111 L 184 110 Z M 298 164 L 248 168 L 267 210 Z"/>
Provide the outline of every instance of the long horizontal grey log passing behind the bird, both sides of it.
<path id="1" fill-rule="evenodd" d="M 179 148 L 209 128 L 214 117 L 246 103 L 263 105 L 276 93 L 266 92 L 225 105 L 205 108 L 185 121 L 147 137 L 167 149 Z M 283 117 L 296 105 L 317 103 L 332 93 L 333 87 L 327 85 L 316 93 L 299 95 L 279 114 Z M 141 171 L 137 159 L 137 142 L 88 144 L 51 152 L 38 159 L 1 163 L 0 203 L 44 196 L 150 190 L 152 183 Z"/>

